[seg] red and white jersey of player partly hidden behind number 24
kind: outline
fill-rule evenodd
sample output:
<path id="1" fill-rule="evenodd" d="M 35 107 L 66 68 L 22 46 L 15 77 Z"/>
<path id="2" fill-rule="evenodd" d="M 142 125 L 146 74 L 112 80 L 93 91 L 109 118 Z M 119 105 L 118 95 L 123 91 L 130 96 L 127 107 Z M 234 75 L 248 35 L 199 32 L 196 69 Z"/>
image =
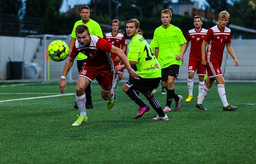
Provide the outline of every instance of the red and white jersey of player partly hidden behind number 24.
<path id="1" fill-rule="evenodd" d="M 123 34 L 117 33 L 115 36 L 112 35 L 112 32 L 106 33 L 103 39 L 107 40 L 112 45 L 116 46 L 117 48 L 122 49 L 125 46 L 125 38 Z M 111 53 L 111 58 L 114 61 L 117 57 L 116 54 Z"/>

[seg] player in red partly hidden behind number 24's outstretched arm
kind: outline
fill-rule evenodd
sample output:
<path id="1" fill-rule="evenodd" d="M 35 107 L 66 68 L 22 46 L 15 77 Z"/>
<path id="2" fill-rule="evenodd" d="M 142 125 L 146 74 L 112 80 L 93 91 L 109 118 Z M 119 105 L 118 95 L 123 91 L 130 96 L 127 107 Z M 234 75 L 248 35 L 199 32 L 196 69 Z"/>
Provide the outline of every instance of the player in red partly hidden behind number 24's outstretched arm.
<path id="1" fill-rule="evenodd" d="M 124 35 L 121 33 L 118 33 L 119 20 L 117 20 L 117 19 L 112 20 L 111 28 L 112 28 L 112 32 L 106 33 L 104 35 L 104 39 L 107 40 L 112 45 L 122 49 L 123 52 L 125 52 L 126 45 L 125 45 Z M 122 61 L 120 61 L 119 57 L 116 54 L 111 53 L 111 59 L 114 63 L 114 66 L 123 64 Z M 118 74 L 118 77 L 116 74 Z M 112 88 L 112 90 L 115 92 L 115 98 L 116 98 L 116 83 L 119 82 L 120 80 L 122 80 L 123 74 L 124 74 L 124 69 L 116 72 L 116 74 L 115 74 L 115 82 L 114 82 L 113 88 Z"/>

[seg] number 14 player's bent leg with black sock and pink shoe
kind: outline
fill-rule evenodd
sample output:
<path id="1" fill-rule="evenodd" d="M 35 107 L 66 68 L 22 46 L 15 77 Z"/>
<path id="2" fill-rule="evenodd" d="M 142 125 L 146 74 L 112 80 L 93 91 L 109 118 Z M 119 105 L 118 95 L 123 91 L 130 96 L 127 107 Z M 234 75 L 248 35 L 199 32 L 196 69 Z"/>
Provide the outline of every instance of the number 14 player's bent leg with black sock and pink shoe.
<path id="1" fill-rule="evenodd" d="M 135 90 L 139 90 L 141 93 L 145 93 L 145 88 L 143 87 L 144 79 L 136 80 L 129 79 L 123 86 L 123 91 L 128 95 L 133 102 L 140 106 L 139 113 L 134 118 L 140 118 L 145 112 L 149 111 L 150 107 L 145 104 L 140 97 L 137 95 Z M 148 85 L 148 84 L 147 84 Z"/>

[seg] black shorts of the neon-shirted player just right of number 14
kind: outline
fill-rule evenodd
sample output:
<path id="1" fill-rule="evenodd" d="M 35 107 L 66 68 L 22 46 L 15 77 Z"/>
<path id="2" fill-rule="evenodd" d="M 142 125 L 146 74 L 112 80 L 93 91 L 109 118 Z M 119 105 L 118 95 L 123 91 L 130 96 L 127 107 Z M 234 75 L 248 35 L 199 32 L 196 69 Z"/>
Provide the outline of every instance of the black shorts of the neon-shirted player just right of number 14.
<path id="1" fill-rule="evenodd" d="M 168 76 L 173 76 L 178 79 L 180 65 L 172 64 L 167 68 L 162 68 L 162 81 L 168 80 Z"/>

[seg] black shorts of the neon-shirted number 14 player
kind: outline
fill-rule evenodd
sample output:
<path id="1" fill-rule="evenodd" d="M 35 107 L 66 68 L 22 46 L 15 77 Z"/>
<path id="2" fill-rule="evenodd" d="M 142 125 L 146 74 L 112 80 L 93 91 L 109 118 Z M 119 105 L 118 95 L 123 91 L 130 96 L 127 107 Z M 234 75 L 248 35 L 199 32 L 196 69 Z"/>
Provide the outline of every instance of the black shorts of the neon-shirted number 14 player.
<path id="1" fill-rule="evenodd" d="M 157 88 L 160 80 L 161 80 L 161 77 L 150 78 L 150 79 L 146 79 L 146 78 L 141 78 L 140 77 L 140 80 L 129 79 L 128 82 L 126 82 L 126 85 L 130 89 L 138 90 L 142 94 L 144 94 L 144 93 L 146 93 L 150 89 Z"/>

